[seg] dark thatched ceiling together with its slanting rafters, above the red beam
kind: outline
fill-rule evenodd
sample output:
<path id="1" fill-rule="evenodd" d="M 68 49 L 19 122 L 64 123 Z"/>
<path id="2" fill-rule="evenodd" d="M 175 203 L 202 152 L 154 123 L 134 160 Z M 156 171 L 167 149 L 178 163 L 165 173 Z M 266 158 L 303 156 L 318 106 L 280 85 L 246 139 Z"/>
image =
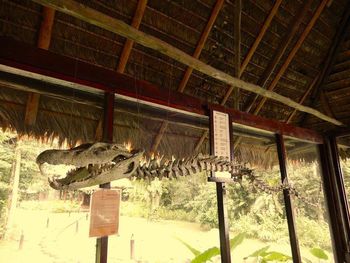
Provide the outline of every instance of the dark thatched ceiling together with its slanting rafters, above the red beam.
<path id="1" fill-rule="evenodd" d="M 81 1 L 229 75 L 350 123 L 350 4 L 346 0 Z M 193 70 L 33 1 L 0 0 L 0 35 L 279 121 L 336 129 L 316 117 Z M 31 93 L 25 121 L 35 123 Z M 153 149 L 166 130 L 164 122 Z M 201 140 L 206 137 L 203 133 Z M 158 142 L 158 143 L 157 143 Z"/>

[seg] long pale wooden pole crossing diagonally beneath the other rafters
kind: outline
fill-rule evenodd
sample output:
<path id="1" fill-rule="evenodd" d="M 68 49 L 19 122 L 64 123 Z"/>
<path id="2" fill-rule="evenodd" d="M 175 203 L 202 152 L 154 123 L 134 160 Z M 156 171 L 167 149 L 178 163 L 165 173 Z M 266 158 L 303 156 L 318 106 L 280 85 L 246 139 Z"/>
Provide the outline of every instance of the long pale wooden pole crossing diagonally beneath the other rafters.
<path id="1" fill-rule="evenodd" d="M 297 108 L 299 111 L 307 112 L 309 114 L 317 116 L 318 118 L 323 119 L 327 122 L 333 123 L 335 125 L 342 125 L 340 121 L 335 120 L 319 112 L 318 110 L 312 109 L 304 105 L 300 105 L 299 103 L 291 100 L 290 98 L 284 97 L 276 92 L 263 89 L 258 85 L 248 83 L 240 79 L 237 79 L 235 77 L 232 77 L 223 71 L 215 69 L 212 66 L 209 66 L 201 62 L 200 60 L 193 58 L 192 56 L 186 54 L 185 52 L 179 50 L 178 48 L 156 37 L 143 33 L 119 19 L 112 18 L 97 10 L 86 7 L 80 3 L 77 3 L 72 0 L 33 0 L 33 1 L 39 4 L 52 7 L 66 14 L 72 15 L 90 24 L 104 28 L 105 30 L 108 30 L 110 32 L 130 38 L 145 47 L 156 50 L 163 55 L 171 57 L 172 59 L 180 63 L 183 63 L 187 66 L 193 67 L 195 70 L 198 70 L 199 72 L 202 72 L 203 74 L 213 77 L 228 85 L 239 87 L 240 89 L 244 89 L 249 92 L 254 92 L 263 97 L 267 97 L 269 99 L 279 101 L 289 107 Z"/>

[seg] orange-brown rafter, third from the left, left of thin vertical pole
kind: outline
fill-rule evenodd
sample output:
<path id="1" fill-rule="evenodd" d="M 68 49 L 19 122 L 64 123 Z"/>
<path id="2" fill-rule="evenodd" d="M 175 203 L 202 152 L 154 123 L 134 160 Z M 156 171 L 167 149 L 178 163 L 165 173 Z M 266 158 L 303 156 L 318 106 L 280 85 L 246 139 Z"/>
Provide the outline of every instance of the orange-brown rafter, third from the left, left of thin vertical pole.
<path id="1" fill-rule="evenodd" d="M 204 30 L 203 30 L 203 32 L 201 34 L 201 37 L 200 37 L 200 39 L 199 39 L 199 41 L 197 43 L 196 49 L 195 49 L 195 51 L 194 51 L 194 53 L 192 55 L 194 58 L 198 59 L 200 54 L 202 53 L 204 45 L 207 42 L 207 39 L 208 39 L 209 34 L 210 34 L 210 31 L 211 31 L 211 29 L 214 26 L 214 23 L 216 21 L 217 16 L 219 15 L 219 12 L 220 12 L 220 10 L 221 10 L 221 8 L 223 6 L 223 3 L 224 3 L 224 0 L 217 0 L 216 1 L 215 6 L 214 6 L 214 8 L 213 8 L 213 10 L 211 12 L 210 17 L 209 17 L 208 23 L 205 26 L 205 28 L 204 28 Z M 184 74 L 184 76 L 183 76 L 183 78 L 182 78 L 182 80 L 180 82 L 179 87 L 178 87 L 178 91 L 179 92 L 181 92 L 181 93 L 184 92 L 185 87 L 187 85 L 187 82 L 190 79 L 190 76 L 192 74 L 192 71 L 193 71 L 193 68 L 191 68 L 191 67 L 188 67 L 186 69 L 185 74 Z M 166 122 L 166 123 L 168 123 L 168 122 Z M 166 130 L 166 128 L 167 128 L 167 124 L 164 124 L 164 131 Z M 160 133 L 157 134 L 157 136 L 156 136 L 156 138 L 154 140 L 154 142 L 157 143 L 157 144 L 156 145 L 155 144 L 152 145 L 152 152 L 155 152 L 157 150 L 158 145 L 159 145 L 159 143 L 160 143 L 160 141 L 161 141 L 161 139 L 163 137 L 163 134 L 164 134 L 164 132 L 162 134 L 160 134 Z M 199 141 L 201 141 L 201 139 Z M 198 146 L 198 144 L 197 144 L 197 146 Z"/>

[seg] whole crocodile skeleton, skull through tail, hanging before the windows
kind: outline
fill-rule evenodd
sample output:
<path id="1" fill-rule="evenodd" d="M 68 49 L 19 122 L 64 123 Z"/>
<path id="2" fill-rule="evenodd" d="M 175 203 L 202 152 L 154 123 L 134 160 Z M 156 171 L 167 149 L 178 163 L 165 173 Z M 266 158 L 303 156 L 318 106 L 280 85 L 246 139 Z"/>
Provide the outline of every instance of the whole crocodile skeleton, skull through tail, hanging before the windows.
<path id="1" fill-rule="evenodd" d="M 46 164 L 73 165 L 65 178 L 49 178 L 50 186 L 57 190 L 75 190 L 108 183 L 122 178 L 154 179 L 177 178 L 199 172 L 229 172 L 233 182 L 240 182 L 243 177 L 258 189 L 273 193 L 288 189 L 298 195 L 287 183 L 273 187 L 265 184 L 254 175 L 254 171 L 215 156 L 197 155 L 186 159 L 151 158 L 145 160 L 143 151 L 129 151 L 120 144 L 93 143 L 82 144 L 69 150 L 46 150 L 36 159 L 42 174 L 47 174 Z"/>

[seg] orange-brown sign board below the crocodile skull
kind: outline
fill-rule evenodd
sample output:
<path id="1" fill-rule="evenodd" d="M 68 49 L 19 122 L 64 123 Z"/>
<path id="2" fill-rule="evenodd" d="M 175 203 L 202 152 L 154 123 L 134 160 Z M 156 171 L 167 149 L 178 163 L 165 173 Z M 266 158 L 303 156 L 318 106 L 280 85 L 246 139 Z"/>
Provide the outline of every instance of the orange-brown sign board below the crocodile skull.
<path id="1" fill-rule="evenodd" d="M 101 189 L 91 195 L 89 237 L 118 234 L 120 191 Z"/>

